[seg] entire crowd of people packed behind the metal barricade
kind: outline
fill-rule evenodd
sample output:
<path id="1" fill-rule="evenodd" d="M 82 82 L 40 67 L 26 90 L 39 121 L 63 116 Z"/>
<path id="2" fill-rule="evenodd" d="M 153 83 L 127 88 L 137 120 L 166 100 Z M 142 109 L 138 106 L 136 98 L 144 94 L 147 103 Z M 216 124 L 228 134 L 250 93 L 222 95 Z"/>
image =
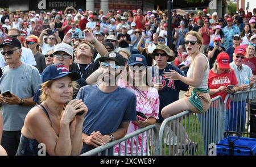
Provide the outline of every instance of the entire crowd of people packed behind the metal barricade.
<path id="1" fill-rule="evenodd" d="M 217 95 L 255 87 L 256 9 L 224 18 L 174 9 L 171 48 L 167 15 L 2 9 L 0 155 L 80 155 L 150 124 L 160 128 L 182 111 L 203 113 Z M 180 90 L 187 91 L 183 99 Z M 232 106 L 242 119 L 224 120 L 225 128 L 243 131 L 246 102 Z M 179 128 L 179 136 L 170 135 L 196 147 Z M 146 155 L 146 139 L 129 139 L 109 155 L 132 155 L 137 142 Z"/>

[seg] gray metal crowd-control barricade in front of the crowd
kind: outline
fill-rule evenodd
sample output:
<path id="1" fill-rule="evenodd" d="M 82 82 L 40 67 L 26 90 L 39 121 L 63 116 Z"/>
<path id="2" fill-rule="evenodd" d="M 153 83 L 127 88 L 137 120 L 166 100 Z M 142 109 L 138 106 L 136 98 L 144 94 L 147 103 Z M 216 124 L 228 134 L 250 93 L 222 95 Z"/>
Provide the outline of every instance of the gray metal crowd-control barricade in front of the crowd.
<path id="1" fill-rule="evenodd" d="M 224 131 L 249 132 L 250 103 L 256 98 L 255 94 L 256 89 L 238 91 L 234 94 L 228 94 L 224 102 L 220 96 L 217 96 L 211 99 L 210 108 L 203 114 L 183 111 L 164 119 L 160 130 L 155 125 L 150 125 L 129 133 L 122 139 L 92 149 L 82 156 L 209 155 L 213 144 L 224 138 Z M 141 139 L 142 143 L 131 142 L 131 151 L 127 151 L 127 141 L 129 139 L 133 141 L 135 138 L 138 141 L 139 135 L 143 137 L 144 133 L 147 136 L 146 142 L 143 143 L 143 139 Z M 153 133 L 155 135 L 152 135 Z M 115 145 L 119 145 L 120 148 L 122 142 L 125 142 L 125 152 L 122 153 L 121 149 L 115 152 Z M 134 143 L 136 145 L 133 145 Z M 139 152 L 141 149 L 138 148 L 141 145 L 146 145 L 146 153 Z M 133 150 L 134 147 L 135 150 Z"/>

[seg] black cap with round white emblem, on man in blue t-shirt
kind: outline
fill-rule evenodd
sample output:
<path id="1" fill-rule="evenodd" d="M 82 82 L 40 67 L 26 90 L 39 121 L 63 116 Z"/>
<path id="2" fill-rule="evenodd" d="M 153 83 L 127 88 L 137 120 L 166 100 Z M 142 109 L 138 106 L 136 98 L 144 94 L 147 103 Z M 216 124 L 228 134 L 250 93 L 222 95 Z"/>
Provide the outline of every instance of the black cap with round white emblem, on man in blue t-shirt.
<path id="1" fill-rule="evenodd" d="M 104 57 L 100 57 L 98 59 L 100 62 L 107 60 L 114 61 L 117 65 L 125 66 L 125 59 L 123 59 L 123 56 L 117 52 L 108 52 L 104 55 Z"/>

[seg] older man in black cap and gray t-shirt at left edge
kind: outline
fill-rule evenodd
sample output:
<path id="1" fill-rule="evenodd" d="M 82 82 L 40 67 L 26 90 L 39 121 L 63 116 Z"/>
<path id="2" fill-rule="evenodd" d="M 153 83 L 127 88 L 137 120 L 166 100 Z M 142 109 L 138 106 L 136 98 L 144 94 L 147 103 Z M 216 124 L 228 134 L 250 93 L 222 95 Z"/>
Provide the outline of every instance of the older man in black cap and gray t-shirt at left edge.
<path id="1" fill-rule="evenodd" d="M 15 37 L 6 37 L 0 45 L 7 62 L 0 78 L 0 91 L 9 90 L 12 97 L 0 95 L 3 114 L 3 136 L 1 145 L 8 155 L 14 156 L 19 145 L 21 129 L 27 112 L 35 105 L 34 93 L 41 78 L 34 66 L 20 61 L 22 45 Z"/>

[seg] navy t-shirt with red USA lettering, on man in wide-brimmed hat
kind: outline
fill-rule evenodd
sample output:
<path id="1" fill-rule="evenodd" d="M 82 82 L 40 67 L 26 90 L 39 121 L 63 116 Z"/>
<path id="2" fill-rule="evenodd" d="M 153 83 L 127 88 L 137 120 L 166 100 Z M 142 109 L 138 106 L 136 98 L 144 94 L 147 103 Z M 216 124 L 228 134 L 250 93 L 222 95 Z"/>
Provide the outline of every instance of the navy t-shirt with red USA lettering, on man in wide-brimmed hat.
<path id="1" fill-rule="evenodd" d="M 162 77 L 162 83 L 163 83 L 163 89 L 158 91 L 159 99 L 160 99 L 160 106 L 159 106 L 159 119 L 158 122 L 163 122 L 163 117 L 161 115 L 161 110 L 163 107 L 169 105 L 172 102 L 175 102 L 179 99 L 179 93 L 180 90 L 187 91 L 188 85 L 181 82 L 180 80 L 167 80 L 163 76 L 163 72 L 170 72 L 170 69 L 175 70 L 182 76 L 185 76 L 183 72 L 181 72 L 180 69 L 176 68 L 176 66 L 167 64 L 165 69 L 159 70 L 159 78 Z M 152 68 L 148 69 L 148 72 L 152 74 L 152 81 L 154 83 L 157 83 L 159 81 L 156 81 L 156 77 L 154 76 L 154 71 L 157 70 L 155 66 L 152 66 Z M 157 73 L 156 73 L 157 74 Z"/>

